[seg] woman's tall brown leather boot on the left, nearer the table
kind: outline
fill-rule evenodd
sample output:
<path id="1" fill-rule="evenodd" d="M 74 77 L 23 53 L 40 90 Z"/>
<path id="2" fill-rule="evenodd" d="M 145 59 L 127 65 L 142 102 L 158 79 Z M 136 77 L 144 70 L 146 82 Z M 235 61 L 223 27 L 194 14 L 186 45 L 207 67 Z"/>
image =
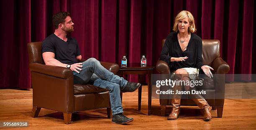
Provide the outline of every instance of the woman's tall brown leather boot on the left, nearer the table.
<path id="1" fill-rule="evenodd" d="M 181 79 L 178 76 L 174 76 L 174 79 Z M 176 93 L 176 91 L 181 91 L 182 90 L 182 85 L 175 85 L 173 87 L 174 93 Z M 172 112 L 169 114 L 167 120 L 176 120 L 179 117 L 179 107 L 180 107 L 180 98 L 181 98 L 181 94 L 174 94 L 172 97 Z"/>

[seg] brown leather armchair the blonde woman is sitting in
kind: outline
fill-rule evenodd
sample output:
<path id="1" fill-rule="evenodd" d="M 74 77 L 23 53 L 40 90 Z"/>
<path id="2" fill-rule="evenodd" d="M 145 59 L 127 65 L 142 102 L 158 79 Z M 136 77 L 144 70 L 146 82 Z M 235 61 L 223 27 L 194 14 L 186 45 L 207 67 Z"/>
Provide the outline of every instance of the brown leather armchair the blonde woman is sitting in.
<path id="1" fill-rule="evenodd" d="M 164 46 L 164 42 L 165 42 L 165 39 L 162 40 L 162 46 Z M 216 99 L 214 98 L 211 98 L 211 99 L 205 98 L 205 99 L 207 100 L 208 104 L 212 106 L 213 110 L 216 110 L 217 108 L 218 117 L 222 117 L 223 105 L 224 105 L 224 99 L 225 99 L 225 74 L 228 73 L 230 67 L 225 61 L 223 61 L 222 58 L 220 58 L 220 41 L 219 40 L 202 40 L 202 59 L 204 64 L 209 65 L 214 69 L 213 74 L 218 74 L 218 76 L 216 76 L 214 80 L 208 81 L 212 83 L 208 83 L 208 85 L 204 85 L 204 89 L 207 89 L 208 92 L 211 93 L 211 95 L 216 94 L 216 92 L 218 92 L 218 97 L 216 95 Z M 156 71 L 158 71 L 161 74 L 170 74 L 169 65 L 165 61 L 161 61 L 161 60 L 157 61 L 156 63 Z M 166 106 L 172 105 L 172 99 L 161 98 L 161 95 L 160 95 L 160 105 L 161 105 L 161 116 L 165 116 Z M 181 105 L 196 106 L 196 104 L 191 99 L 181 99 Z"/>

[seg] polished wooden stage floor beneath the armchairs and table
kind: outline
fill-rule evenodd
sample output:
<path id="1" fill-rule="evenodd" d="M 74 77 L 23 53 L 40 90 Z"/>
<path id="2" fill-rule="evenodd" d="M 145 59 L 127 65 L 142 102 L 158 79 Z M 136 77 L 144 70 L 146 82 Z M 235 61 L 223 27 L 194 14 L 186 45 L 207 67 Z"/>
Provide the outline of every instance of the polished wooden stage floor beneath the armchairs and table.
<path id="1" fill-rule="evenodd" d="M 141 111 L 138 111 L 138 90 L 123 94 L 124 114 L 133 117 L 127 125 L 111 123 L 106 109 L 81 111 L 72 115 L 72 124 L 64 124 L 63 114 L 54 110 L 41 109 L 39 117 L 32 116 L 32 91 L 0 89 L 0 122 L 28 121 L 29 127 L 15 129 L 256 129 L 256 99 L 225 99 L 223 117 L 217 118 L 212 110 L 212 120 L 205 122 L 198 107 L 182 107 L 177 120 L 166 120 L 160 116 L 159 99 L 152 98 L 152 115 L 147 113 L 147 86 L 142 88 Z M 167 112 L 171 107 L 167 107 Z M 3 127 L 0 127 L 3 129 Z M 4 128 L 13 129 L 13 128 Z"/>

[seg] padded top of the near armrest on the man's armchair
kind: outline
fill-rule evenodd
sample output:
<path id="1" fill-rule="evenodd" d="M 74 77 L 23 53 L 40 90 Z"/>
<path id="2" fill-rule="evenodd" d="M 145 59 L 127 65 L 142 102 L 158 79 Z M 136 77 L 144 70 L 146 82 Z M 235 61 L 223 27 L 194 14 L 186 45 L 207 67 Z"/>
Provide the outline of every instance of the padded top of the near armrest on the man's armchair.
<path id="1" fill-rule="evenodd" d="M 73 72 L 64 67 L 60 66 L 50 66 L 50 65 L 44 65 L 40 63 L 31 63 L 29 64 L 29 68 L 31 71 L 41 73 L 41 74 L 46 74 L 62 79 L 69 79 L 73 77 Z"/>

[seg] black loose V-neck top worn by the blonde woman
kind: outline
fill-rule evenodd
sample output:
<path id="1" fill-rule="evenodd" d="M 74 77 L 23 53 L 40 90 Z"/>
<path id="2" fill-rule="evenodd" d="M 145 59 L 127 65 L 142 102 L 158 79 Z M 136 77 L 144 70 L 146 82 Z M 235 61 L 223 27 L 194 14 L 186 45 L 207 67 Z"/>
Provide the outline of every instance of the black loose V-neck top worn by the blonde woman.
<path id="1" fill-rule="evenodd" d="M 160 60 L 166 61 L 170 66 L 170 71 L 176 71 L 181 68 L 198 68 L 204 65 L 202 63 L 202 39 L 194 33 L 191 33 L 191 38 L 187 45 L 187 50 L 182 51 L 179 46 L 177 37 L 178 33 L 170 33 L 162 48 Z M 185 61 L 171 62 L 171 57 L 185 57 Z"/>

